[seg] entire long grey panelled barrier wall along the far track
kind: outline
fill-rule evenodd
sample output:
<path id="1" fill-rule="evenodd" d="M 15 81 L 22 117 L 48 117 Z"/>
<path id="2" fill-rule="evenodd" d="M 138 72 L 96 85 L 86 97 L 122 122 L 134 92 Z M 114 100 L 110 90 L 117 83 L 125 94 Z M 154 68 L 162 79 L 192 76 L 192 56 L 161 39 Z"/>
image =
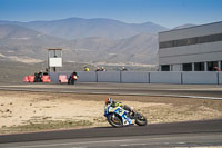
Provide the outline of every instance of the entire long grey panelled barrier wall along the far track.
<path id="1" fill-rule="evenodd" d="M 59 82 L 59 75 L 72 72 L 50 72 L 52 82 Z M 222 85 L 222 72 L 218 71 L 78 71 L 77 82 L 140 82 L 140 83 L 184 83 Z"/>

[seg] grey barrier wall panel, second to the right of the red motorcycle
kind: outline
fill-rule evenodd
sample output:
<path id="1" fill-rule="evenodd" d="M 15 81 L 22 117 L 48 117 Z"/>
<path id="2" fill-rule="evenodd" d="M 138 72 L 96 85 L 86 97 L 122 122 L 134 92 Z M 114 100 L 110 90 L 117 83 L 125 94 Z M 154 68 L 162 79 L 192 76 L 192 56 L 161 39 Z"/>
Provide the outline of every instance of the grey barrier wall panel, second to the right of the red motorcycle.
<path id="1" fill-rule="evenodd" d="M 98 82 L 120 82 L 120 71 L 98 71 Z"/>

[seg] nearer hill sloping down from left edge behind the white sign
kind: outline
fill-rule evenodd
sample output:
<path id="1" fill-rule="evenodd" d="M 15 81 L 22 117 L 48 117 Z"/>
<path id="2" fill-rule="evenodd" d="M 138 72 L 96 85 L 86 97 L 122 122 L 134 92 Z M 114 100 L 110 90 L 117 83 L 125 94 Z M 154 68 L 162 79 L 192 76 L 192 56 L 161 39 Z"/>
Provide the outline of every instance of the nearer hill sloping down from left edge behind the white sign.
<path id="1" fill-rule="evenodd" d="M 65 48 L 67 40 L 16 24 L 0 24 L 0 53 L 6 57 L 47 58 L 47 48 Z"/>

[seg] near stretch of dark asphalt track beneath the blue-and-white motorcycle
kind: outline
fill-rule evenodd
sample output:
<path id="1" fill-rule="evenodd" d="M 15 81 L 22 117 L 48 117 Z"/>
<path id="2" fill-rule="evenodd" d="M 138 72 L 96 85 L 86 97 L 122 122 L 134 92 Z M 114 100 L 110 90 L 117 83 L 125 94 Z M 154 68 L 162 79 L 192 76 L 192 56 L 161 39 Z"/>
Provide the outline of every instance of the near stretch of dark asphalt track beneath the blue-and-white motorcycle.
<path id="1" fill-rule="evenodd" d="M 168 147 L 188 145 L 222 146 L 222 120 L 159 124 L 145 127 L 103 127 L 0 136 L 0 147 L 34 146 L 71 148 L 77 146 L 92 147 L 92 144 L 93 147 L 113 147 L 113 145 L 114 147 L 131 145 L 141 147 L 141 144 L 144 147 L 160 145 Z"/>

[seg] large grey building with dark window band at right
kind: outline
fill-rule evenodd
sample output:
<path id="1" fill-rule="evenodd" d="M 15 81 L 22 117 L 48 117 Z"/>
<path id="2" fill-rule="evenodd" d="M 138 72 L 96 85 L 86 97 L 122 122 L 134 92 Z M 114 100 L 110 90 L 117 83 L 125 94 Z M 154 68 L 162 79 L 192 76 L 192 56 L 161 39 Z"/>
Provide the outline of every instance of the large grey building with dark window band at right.
<path id="1" fill-rule="evenodd" d="M 160 71 L 222 69 L 222 21 L 159 33 Z"/>

